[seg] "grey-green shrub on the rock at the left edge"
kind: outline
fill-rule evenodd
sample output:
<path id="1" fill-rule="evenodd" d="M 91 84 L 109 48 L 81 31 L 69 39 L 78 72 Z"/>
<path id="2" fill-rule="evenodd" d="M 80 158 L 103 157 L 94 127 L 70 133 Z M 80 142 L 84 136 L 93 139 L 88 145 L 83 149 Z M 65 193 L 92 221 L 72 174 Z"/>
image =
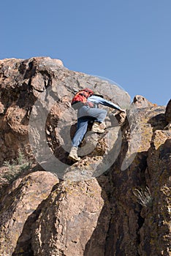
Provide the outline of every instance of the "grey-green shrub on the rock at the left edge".
<path id="1" fill-rule="evenodd" d="M 12 160 L 12 162 L 4 162 L 4 166 L 8 167 L 8 172 L 4 173 L 3 178 L 6 178 L 7 181 L 14 181 L 21 173 L 29 169 L 31 162 L 29 162 L 24 154 L 19 151 L 18 158 L 16 160 Z"/>

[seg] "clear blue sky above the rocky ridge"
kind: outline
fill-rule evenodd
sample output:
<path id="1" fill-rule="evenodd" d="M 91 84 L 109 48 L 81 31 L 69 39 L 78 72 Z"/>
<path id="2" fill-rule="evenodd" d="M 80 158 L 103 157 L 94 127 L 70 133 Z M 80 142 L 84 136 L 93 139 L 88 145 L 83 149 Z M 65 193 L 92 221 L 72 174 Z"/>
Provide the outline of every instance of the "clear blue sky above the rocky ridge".
<path id="1" fill-rule="evenodd" d="M 166 105 L 171 0 L 1 0 L 0 59 L 50 56 Z"/>

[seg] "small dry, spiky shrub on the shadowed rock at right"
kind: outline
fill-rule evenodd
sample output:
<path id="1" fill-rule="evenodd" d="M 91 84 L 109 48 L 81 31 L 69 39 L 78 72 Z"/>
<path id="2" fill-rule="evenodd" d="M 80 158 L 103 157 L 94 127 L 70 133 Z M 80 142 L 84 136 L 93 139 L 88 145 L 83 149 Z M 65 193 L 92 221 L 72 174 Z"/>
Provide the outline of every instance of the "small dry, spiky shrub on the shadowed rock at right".
<path id="1" fill-rule="evenodd" d="M 134 189 L 133 194 L 137 197 L 138 203 L 140 203 L 140 205 L 145 207 L 151 206 L 153 198 L 148 187 L 146 187 L 144 190 Z"/>

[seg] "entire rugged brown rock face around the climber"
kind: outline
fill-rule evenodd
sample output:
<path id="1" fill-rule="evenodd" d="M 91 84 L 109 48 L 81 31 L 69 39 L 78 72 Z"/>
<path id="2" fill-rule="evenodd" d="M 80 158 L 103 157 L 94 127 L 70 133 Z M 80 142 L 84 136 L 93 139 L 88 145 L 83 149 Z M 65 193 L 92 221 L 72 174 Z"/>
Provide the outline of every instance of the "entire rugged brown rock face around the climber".
<path id="1" fill-rule="evenodd" d="M 88 131 L 73 164 L 69 102 L 83 87 L 126 118 L 108 108 L 107 131 Z M 48 57 L 0 61 L 0 92 L 0 255 L 171 255 L 170 102 L 130 105 L 118 86 Z M 7 181 L 19 150 L 33 165 Z"/>

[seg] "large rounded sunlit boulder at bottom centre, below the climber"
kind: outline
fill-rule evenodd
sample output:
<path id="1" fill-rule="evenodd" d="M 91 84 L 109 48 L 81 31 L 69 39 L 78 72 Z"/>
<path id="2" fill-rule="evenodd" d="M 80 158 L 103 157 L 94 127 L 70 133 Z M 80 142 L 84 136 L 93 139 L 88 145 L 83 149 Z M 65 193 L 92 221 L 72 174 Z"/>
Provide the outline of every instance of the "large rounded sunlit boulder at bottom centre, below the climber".
<path id="1" fill-rule="evenodd" d="M 104 255 L 109 218 L 107 195 L 95 178 L 80 183 L 64 181 L 48 197 L 37 219 L 32 238 L 34 255 L 80 256 L 85 251 L 86 255 Z M 88 246 L 94 232 L 96 242 Z"/>

